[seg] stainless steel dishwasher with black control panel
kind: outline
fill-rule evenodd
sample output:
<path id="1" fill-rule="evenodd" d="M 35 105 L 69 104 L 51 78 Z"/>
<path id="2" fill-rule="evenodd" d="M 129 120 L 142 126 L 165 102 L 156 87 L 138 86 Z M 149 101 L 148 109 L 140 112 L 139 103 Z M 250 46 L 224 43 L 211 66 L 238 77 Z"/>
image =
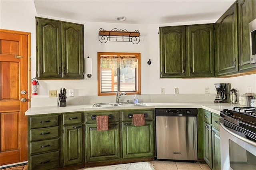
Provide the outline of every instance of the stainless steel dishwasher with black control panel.
<path id="1" fill-rule="evenodd" d="M 197 109 L 155 109 L 156 160 L 197 160 Z"/>

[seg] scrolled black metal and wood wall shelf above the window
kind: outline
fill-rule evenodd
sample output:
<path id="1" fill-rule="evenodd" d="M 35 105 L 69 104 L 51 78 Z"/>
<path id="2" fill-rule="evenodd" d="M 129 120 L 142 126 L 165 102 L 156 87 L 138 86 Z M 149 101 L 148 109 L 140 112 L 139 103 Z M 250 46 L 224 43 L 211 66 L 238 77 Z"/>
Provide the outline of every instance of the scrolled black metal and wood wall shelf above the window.
<path id="1" fill-rule="evenodd" d="M 132 42 L 133 44 L 137 44 L 140 42 L 140 32 L 138 30 L 135 30 L 134 32 L 128 32 L 123 28 L 120 30 L 114 28 L 111 31 L 106 31 L 100 28 L 99 41 L 101 43 Z"/>

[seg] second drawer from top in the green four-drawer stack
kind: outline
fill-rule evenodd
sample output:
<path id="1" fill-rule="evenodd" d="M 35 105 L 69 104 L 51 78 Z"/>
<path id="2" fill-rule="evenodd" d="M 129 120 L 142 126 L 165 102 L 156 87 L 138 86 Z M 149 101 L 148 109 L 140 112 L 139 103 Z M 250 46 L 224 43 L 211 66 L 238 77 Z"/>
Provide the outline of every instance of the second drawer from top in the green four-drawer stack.
<path id="1" fill-rule="evenodd" d="M 59 127 L 38 128 L 30 130 L 30 140 L 46 140 L 59 137 Z"/>

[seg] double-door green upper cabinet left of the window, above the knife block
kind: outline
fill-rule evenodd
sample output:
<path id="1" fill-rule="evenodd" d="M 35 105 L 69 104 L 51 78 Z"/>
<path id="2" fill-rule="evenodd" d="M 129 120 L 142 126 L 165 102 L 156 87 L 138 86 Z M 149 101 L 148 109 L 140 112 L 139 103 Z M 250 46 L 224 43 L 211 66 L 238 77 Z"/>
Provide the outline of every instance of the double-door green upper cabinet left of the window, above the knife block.
<path id="1" fill-rule="evenodd" d="M 36 17 L 37 79 L 84 79 L 84 25 Z"/>

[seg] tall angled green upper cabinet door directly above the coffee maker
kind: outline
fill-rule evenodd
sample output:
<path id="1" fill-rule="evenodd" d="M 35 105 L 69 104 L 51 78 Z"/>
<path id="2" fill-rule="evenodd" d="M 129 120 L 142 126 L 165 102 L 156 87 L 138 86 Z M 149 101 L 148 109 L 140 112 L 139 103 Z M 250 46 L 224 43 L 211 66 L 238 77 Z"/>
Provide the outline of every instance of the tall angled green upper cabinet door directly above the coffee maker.
<path id="1" fill-rule="evenodd" d="M 216 73 L 230 75 L 238 72 L 237 6 L 231 6 L 216 22 Z"/>

